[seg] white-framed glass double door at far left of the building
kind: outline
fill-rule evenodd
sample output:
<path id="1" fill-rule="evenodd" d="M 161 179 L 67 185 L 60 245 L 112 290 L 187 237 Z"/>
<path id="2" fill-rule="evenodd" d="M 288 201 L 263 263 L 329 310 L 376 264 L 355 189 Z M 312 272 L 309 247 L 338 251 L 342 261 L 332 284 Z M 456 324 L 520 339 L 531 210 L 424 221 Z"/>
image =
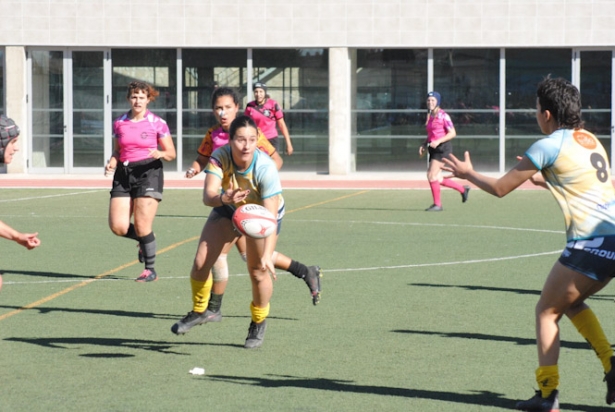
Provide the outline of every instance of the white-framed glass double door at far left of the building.
<path id="1" fill-rule="evenodd" d="M 29 171 L 102 173 L 111 146 L 108 55 L 68 49 L 28 53 Z"/>

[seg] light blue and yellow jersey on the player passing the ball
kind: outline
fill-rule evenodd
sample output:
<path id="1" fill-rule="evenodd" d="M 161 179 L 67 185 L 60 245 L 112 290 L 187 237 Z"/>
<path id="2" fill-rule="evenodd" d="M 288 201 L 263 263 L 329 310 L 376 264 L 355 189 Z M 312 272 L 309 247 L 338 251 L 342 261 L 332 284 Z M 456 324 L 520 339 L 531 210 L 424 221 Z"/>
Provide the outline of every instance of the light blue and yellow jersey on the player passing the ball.
<path id="1" fill-rule="evenodd" d="M 282 184 L 280 183 L 278 169 L 267 153 L 255 150 L 252 164 L 246 170 L 240 172 L 233 162 L 231 146 L 225 145 L 214 150 L 205 167 L 205 173 L 218 176 L 222 180 L 221 187 L 223 190 L 230 187 L 231 180 L 235 189 L 249 189 L 250 193 L 242 204 L 255 203 L 262 206 L 264 199 L 279 196 L 278 219 L 282 218 L 284 214 Z M 233 208 L 238 206 L 241 205 L 232 205 Z"/>

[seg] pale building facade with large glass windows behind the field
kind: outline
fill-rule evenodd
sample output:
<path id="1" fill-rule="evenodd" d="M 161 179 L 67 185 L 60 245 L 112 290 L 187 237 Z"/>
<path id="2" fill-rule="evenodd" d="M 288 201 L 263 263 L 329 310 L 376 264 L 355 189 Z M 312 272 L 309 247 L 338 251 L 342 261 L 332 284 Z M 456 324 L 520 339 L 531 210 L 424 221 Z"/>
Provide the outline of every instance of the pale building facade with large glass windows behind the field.
<path id="1" fill-rule="evenodd" d="M 0 0 L 0 13 L 0 112 L 22 129 L 8 173 L 101 173 L 133 79 L 161 92 L 150 109 L 178 172 L 213 125 L 212 90 L 245 105 L 256 81 L 284 110 L 287 171 L 424 170 L 435 89 L 455 152 L 504 172 L 540 137 L 547 75 L 579 87 L 587 128 L 615 147 L 612 0 Z"/>

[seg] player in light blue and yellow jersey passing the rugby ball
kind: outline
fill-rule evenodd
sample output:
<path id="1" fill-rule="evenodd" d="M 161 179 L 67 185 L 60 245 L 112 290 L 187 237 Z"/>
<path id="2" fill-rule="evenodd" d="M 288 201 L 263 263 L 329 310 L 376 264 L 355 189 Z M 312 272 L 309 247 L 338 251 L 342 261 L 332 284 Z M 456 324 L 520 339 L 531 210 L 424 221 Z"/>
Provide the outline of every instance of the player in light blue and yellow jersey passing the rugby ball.
<path id="1" fill-rule="evenodd" d="M 221 120 L 225 124 L 224 119 Z M 246 237 L 246 261 L 252 281 L 252 321 L 244 347 L 251 349 L 260 347 L 265 336 L 273 293 L 271 276 L 275 278 L 272 256 L 284 216 L 284 200 L 276 164 L 267 153 L 258 150 L 258 130 L 254 121 L 240 116 L 230 124 L 228 134 L 229 143 L 212 153 L 205 169 L 203 203 L 213 209 L 201 232 L 190 271 L 192 311 L 175 323 L 171 331 L 186 333 L 193 326 L 210 321 L 205 319 L 213 278 L 210 271 L 222 251 L 228 250 L 240 236 L 233 227 L 233 212 L 242 204 L 259 204 L 278 217 L 278 233 L 264 239 Z"/>

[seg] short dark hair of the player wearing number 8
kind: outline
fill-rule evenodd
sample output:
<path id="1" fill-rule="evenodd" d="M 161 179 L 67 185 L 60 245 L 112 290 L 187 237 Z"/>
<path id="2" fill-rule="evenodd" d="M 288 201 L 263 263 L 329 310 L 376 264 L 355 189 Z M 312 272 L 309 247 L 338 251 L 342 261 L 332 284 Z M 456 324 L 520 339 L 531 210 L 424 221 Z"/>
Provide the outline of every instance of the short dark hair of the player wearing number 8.
<path id="1" fill-rule="evenodd" d="M 547 76 L 538 83 L 538 103 L 540 110 L 548 110 L 564 129 L 578 129 L 583 127 L 581 119 L 581 93 L 568 80 L 558 77 L 552 79 Z"/>

